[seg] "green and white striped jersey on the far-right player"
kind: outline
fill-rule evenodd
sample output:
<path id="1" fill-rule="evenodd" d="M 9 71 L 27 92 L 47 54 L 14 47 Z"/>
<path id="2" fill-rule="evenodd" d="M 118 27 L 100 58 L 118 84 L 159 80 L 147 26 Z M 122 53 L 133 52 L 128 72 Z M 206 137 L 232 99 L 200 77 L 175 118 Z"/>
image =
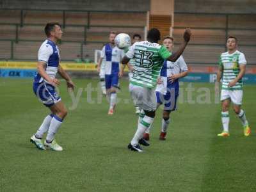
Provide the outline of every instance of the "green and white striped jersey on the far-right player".
<path id="1" fill-rule="evenodd" d="M 240 79 L 235 86 L 228 87 L 228 83 L 236 79 L 240 72 L 239 65 L 246 64 L 243 52 L 236 51 L 232 54 L 223 52 L 220 56 L 219 65 L 223 67 L 222 86 L 224 90 L 242 90 L 243 81 Z"/>

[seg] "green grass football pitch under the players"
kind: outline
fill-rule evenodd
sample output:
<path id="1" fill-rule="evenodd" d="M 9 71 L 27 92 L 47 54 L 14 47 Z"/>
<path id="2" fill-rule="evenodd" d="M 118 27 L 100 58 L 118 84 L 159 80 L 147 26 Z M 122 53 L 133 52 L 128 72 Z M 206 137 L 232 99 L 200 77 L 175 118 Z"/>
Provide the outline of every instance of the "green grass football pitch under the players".
<path id="1" fill-rule="evenodd" d="M 157 111 L 145 152 L 127 150 L 138 117 L 122 80 L 122 99 L 108 116 L 105 99 L 97 92 L 88 103 L 84 90 L 76 109 L 69 110 L 56 140 L 63 152 L 41 151 L 29 143 L 49 113 L 32 92 L 31 79 L 0 79 L 0 191 L 256 191 L 255 86 L 244 86 L 243 109 L 252 127 L 245 138 L 241 122 L 230 110 L 230 137 L 221 132 L 220 104 L 214 86 L 192 83 L 193 99 L 208 88 L 211 103 L 179 104 L 172 114 L 166 141 L 159 141 L 161 109 Z M 97 80 L 74 79 L 77 89 Z M 182 87 L 189 86 L 188 83 Z M 81 90 L 81 89 L 80 89 Z M 197 90 L 197 91 L 196 91 Z M 184 98 L 188 93 L 184 91 Z M 72 100 L 61 81 L 66 106 Z M 201 98 L 202 99 L 202 98 Z M 99 99 L 100 100 L 100 99 Z"/>

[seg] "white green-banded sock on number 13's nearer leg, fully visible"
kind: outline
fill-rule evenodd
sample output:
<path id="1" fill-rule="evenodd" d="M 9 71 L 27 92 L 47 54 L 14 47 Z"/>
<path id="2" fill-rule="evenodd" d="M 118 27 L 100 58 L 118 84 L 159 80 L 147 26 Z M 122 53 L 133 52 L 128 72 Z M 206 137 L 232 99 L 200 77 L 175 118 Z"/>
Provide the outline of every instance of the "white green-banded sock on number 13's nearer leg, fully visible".
<path id="1" fill-rule="evenodd" d="M 152 124 L 153 120 L 154 118 L 149 117 L 147 115 L 141 118 L 141 121 L 138 124 L 138 129 L 131 140 L 131 145 L 138 145 L 139 140 L 143 137 L 143 133 Z"/>

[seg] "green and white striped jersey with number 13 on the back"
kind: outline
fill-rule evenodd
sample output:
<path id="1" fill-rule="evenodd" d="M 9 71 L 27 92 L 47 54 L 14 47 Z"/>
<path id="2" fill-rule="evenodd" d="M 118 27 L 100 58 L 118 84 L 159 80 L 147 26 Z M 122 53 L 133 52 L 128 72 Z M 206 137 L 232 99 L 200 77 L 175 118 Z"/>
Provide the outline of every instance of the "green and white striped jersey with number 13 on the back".
<path id="1" fill-rule="evenodd" d="M 172 53 L 166 47 L 157 43 L 148 41 L 134 43 L 126 53 L 127 58 L 134 59 L 134 70 L 130 83 L 154 88 L 163 61 L 171 55 Z"/>

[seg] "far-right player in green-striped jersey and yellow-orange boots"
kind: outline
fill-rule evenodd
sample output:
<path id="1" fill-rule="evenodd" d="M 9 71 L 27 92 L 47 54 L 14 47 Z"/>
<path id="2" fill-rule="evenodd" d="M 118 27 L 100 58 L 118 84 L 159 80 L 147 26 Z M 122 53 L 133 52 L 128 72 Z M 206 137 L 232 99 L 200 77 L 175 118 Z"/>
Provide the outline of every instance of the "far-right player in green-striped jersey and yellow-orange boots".
<path id="1" fill-rule="evenodd" d="M 237 38 L 235 36 L 228 36 L 227 52 L 223 52 L 220 56 L 219 70 L 217 73 L 217 81 L 215 84 L 216 92 L 219 92 L 219 83 L 222 78 L 221 85 L 221 121 L 223 125 L 223 132 L 218 136 L 229 136 L 228 124 L 229 113 L 228 109 L 230 102 L 233 102 L 233 109 L 240 118 L 244 136 L 249 136 L 251 129 L 246 120 L 245 112 L 241 109 L 243 100 L 243 81 L 242 77 L 245 74 L 246 60 L 243 52 L 237 51 Z"/>

